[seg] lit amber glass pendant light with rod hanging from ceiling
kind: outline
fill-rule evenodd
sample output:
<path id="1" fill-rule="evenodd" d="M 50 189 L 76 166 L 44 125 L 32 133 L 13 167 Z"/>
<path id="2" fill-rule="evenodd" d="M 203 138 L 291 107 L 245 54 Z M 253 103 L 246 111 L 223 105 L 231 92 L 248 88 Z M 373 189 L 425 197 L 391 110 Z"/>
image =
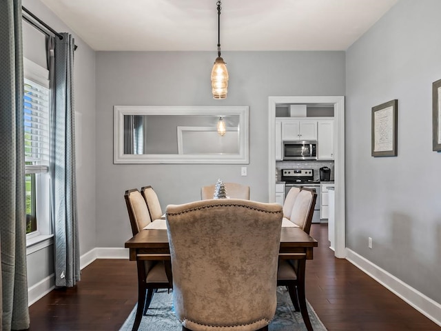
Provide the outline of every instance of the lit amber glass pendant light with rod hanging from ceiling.
<path id="1" fill-rule="evenodd" d="M 212 69 L 212 92 L 213 99 L 226 99 L 227 98 L 227 88 L 228 88 L 228 72 L 227 66 L 220 57 L 220 7 L 221 3 L 218 1 L 216 3 L 218 8 L 218 57 L 214 61 L 214 66 Z"/>

